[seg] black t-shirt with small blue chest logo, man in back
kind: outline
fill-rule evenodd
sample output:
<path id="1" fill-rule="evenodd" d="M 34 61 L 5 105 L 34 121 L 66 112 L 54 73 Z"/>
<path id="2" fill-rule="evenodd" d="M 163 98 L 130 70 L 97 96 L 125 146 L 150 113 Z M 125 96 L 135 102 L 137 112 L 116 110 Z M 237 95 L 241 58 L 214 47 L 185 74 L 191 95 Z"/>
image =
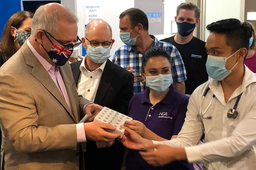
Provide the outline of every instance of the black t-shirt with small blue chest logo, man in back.
<path id="1" fill-rule="evenodd" d="M 187 71 L 185 94 L 192 94 L 199 85 L 208 80 L 205 66 L 208 55 L 205 49 L 205 42 L 193 37 L 187 44 L 178 44 L 174 41 L 174 36 L 165 38 L 161 41 L 171 43 L 181 54 L 181 58 Z"/>

